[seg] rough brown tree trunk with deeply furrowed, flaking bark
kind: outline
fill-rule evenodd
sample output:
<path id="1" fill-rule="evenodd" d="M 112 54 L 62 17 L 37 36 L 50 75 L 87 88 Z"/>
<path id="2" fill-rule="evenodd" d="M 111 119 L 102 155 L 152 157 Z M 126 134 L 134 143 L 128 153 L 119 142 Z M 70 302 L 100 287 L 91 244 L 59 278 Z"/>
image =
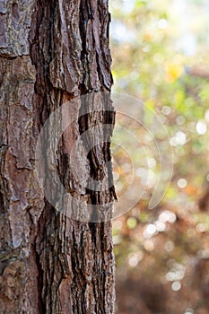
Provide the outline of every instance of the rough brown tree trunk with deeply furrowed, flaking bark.
<path id="1" fill-rule="evenodd" d="M 0 1 L 1 314 L 114 312 L 112 208 L 105 205 L 116 198 L 114 188 L 83 188 L 72 170 L 83 169 L 86 182 L 90 176 L 112 180 L 109 141 L 86 151 L 86 143 L 107 131 L 103 124 L 114 125 L 109 93 L 100 94 L 111 88 L 110 63 L 107 1 Z M 74 100 L 83 94 L 95 113 L 76 119 L 86 112 L 86 101 Z M 74 216 L 82 211 L 103 222 L 59 213 L 36 179 L 39 131 L 67 100 L 74 100 L 67 114 L 75 123 L 59 143 L 55 167 L 65 188 L 82 200 L 82 208 L 72 202 Z M 71 144 L 95 125 L 98 132 L 79 144 L 72 160 Z M 107 132 L 110 138 L 112 128 Z M 91 204 L 96 207 L 89 211 Z"/>

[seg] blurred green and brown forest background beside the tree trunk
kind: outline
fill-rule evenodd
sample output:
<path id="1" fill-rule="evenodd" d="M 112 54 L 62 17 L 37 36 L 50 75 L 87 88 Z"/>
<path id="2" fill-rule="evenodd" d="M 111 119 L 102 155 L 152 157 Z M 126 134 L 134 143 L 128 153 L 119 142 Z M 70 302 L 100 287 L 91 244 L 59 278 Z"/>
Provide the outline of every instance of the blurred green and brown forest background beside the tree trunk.
<path id="1" fill-rule="evenodd" d="M 153 124 L 147 109 L 161 117 L 173 149 L 170 186 L 161 203 L 149 209 L 159 172 L 166 179 L 168 167 L 160 167 L 152 150 L 143 155 L 140 147 L 129 145 L 130 158 L 139 162 L 133 174 L 136 188 L 139 193 L 145 188 L 145 193 L 113 221 L 117 313 L 207 314 L 209 2 L 110 0 L 109 11 L 113 90 L 144 101 L 147 127 Z M 130 114 L 139 118 L 140 112 L 130 109 Z M 144 128 L 137 132 L 149 146 Z M 131 161 L 114 144 L 112 149 L 121 196 L 129 184 Z"/>

